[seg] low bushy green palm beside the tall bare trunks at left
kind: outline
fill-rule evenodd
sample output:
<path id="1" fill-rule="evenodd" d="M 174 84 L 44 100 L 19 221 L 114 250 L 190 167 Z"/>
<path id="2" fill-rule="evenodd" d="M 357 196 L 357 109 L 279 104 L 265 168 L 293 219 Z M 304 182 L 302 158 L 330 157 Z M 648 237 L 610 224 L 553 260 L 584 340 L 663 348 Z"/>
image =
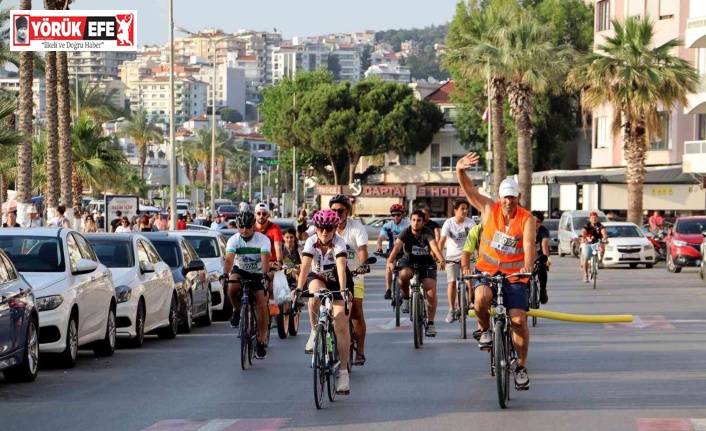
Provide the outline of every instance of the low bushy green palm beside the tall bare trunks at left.
<path id="1" fill-rule="evenodd" d="M 127 163 L 123 152 L 113 146 L 113 138 L 103 136 L 101 123 L 84 114 L 71 130 L 74 202 L 81 202 L 84 185 L 100 186 L 101 179 L 115 176 Z"/>

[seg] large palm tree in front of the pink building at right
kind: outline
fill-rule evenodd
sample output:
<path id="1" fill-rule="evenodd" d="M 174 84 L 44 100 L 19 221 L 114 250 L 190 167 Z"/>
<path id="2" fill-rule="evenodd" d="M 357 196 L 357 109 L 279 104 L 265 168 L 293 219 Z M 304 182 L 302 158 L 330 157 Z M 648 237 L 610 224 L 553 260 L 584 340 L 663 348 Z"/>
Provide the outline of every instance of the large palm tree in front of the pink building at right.
<path id="1" fill-rule="evenodd" d="M 651 136 L 660 132 L 659 107 L 671 111 L 687 104 L 696 91 L 696 70 L 672 52 L 678 39 L 654 46 L 654 23 L 630 17 L 612 21 L 615 36 L 588 54 L 569 74 L 567 84 L 581 90 L 586 111 L 603 105 L 613 108 L 613 135 L 622 133 L 628 186 L 628 221 L 642 224 L 645 158 Z"/>

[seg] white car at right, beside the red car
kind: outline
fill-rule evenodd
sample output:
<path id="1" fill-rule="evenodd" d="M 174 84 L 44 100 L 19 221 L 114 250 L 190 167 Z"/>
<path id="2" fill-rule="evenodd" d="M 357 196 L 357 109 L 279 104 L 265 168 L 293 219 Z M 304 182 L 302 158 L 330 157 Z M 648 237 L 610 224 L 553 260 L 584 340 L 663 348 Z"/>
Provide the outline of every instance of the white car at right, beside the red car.
<path id="1" fill-rule="evenodd" d="M 629 222 L 605 222 L 603 226 L 608 234 L 603 265 L 630 265 L 630 268 L 636 268 L 644 264 L 652 268 L 655 249 L 642 229 Z"/>

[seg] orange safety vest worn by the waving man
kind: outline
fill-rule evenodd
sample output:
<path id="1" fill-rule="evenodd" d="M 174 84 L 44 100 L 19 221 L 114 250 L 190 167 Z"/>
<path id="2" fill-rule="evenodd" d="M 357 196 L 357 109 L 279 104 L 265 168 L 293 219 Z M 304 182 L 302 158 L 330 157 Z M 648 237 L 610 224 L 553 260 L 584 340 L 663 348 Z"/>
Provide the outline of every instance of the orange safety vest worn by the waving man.
<path id="1" fill-rule="evenodd" d="M 500 202 L 493 205 L 488 215 L 488 222 L 483 226 L 480 240 L 480 250 L 476 269 L 481 272 L 503 274 L 519 272 L 525 266 L 525 250 L 522 237 L 524 226 L 532 214 L 524 208 L 517 207 L 515 219 L 505 232 Z"/>

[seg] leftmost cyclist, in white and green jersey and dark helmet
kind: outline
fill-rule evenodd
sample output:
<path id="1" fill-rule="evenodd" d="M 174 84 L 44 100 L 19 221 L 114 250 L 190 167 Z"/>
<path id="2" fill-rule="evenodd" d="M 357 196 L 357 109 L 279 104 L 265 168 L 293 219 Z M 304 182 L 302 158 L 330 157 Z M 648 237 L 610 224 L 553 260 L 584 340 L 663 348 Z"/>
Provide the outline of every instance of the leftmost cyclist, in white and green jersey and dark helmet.
<path id="1" fill-rule="evenodd" d="M 231 280 L 257 281 L 255 301 L 257 309 L 257 346 L 255 357 L 267 357 L 267 291 L 265 289 L 266 274 L 270 269 L 270 240 L 254 231 L 255 216 L 251 212 L 242 212 L 236 218 L 238 233 L 230 237 L 226 243 L 226 256 L 223 261 L 223 274 L 229 274 Z M 235 266 L 233 264 L 235 263 Z M 233 304 L 233 315 L 230 326 L 237 327 L 240 323 L 240 284 L 228 284 L 227 292 L 230 303 Z"/>

